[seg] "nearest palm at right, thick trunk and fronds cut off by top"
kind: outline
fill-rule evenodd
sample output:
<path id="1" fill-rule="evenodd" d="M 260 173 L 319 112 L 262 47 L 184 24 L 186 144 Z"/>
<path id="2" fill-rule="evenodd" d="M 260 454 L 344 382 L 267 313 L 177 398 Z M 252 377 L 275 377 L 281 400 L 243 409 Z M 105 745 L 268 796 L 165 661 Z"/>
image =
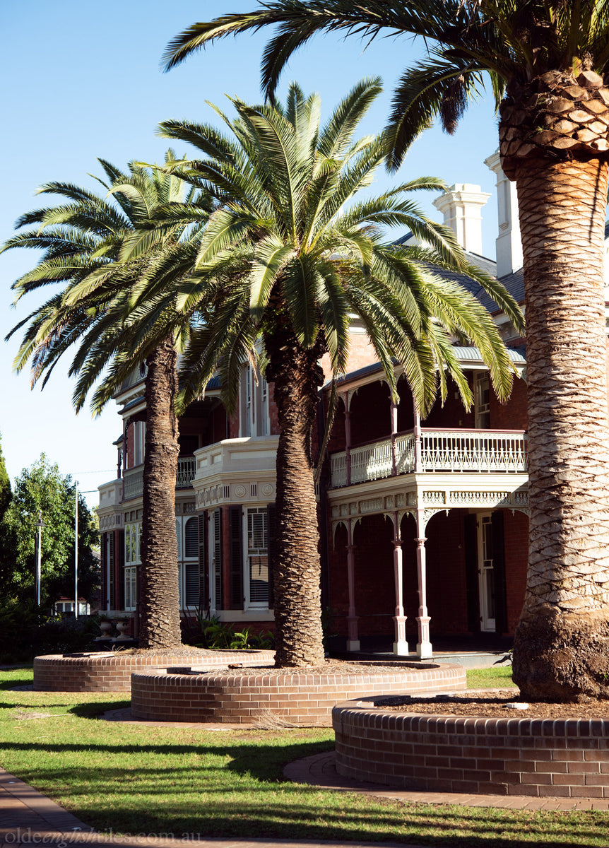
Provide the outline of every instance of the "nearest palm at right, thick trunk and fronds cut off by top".
<path id="1" fill-rule="evenodd" d="M 421 36 L 388 124 L 388 163 L 434 118 L 453 131 L 490 81 L 516 181 L 528 337 L 528 586 L 514 679 L 528 700 L 609 697 L 609 437 L 603 237 L 609 151 L 606 0 L 269 0 L 177 36 L 167 66 L 265 25 L 269 96 L 311 36 Z"/>

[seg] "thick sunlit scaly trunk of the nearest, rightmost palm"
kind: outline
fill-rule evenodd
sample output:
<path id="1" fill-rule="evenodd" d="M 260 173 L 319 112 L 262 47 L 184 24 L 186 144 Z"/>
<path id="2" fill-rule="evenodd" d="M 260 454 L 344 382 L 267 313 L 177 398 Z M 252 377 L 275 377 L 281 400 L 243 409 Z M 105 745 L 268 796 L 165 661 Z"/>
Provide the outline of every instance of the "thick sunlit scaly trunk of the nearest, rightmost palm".
<path id="1" fill-rule="evenodd" d="M 527 319 L 530 530 L 514 680 L 526 700 L 607 698 L 607 164 L 521 160 L 516 182 Z"/>

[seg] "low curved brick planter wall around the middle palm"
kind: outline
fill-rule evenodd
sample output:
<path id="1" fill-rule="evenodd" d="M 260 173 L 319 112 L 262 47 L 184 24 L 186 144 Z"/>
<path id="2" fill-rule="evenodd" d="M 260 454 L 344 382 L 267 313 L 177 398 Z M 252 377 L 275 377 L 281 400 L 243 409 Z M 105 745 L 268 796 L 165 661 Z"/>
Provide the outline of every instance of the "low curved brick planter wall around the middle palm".
<path id="1" fill-rule="evenodd" d="M 131 715 L 170 722 L 254 724 L 273 716 L 298 725 L 329 727 L 332 706 L 360 695 L 455 692 L 466 688 L 461 666 L 400 664 L 361 672 L 270 674 L 138 672 L 131 678 Z"/>

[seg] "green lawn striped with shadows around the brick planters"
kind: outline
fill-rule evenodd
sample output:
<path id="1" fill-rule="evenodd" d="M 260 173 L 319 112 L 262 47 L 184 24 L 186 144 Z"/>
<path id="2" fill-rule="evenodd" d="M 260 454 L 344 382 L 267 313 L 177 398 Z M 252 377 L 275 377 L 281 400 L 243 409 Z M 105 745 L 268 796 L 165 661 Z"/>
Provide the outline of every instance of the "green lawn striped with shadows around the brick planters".
<path id="1" fill-rule="evenodd" d="M 506 670 L 492 672 L 494 685 L 505 685 Z M 210 731 L 103 722 L 95 719 L 99 712 L 126 706 L 119 695 L 12 691 L 31 683 L 28 668 L 0 672 L 0 680 L 2 766 L 103 833 L 461 848 L 609 845 L 606 812 L 405 804 L 285 780 L 286 763 L 332 750 L 330 729 Z"/>

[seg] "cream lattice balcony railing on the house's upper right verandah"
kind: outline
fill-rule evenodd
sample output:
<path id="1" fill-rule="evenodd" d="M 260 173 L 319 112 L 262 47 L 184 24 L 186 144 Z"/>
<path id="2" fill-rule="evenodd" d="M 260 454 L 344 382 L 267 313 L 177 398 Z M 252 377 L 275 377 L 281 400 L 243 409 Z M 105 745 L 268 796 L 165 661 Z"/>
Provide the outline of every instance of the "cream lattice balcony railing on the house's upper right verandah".
<path id="1" fill-rule="evenodd" d="M 349 475 L 350 466 L 350 475 Z M 522 430 L 427 430 L 421 432 L 421 460 L 416 467 L 414 432 L 332 454 L 332 488 L 393 477 L 395 474 L 453 471 L 523 474 L 527 471 L 527 437 Z"/>

